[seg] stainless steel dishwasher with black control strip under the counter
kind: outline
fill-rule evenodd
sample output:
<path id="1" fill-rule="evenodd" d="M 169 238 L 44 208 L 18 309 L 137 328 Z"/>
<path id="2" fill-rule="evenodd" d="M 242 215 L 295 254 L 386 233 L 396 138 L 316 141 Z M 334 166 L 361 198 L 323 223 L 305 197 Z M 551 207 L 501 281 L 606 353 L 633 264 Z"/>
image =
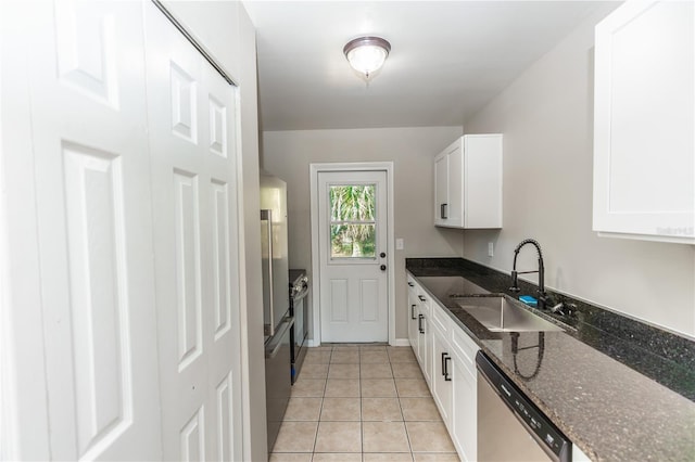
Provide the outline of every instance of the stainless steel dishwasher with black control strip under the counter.
<path id="1" fill-rule="evenodd" d="M 571 461 L 571 441 L 482 351 L 476 365 L 478 462 Z"/>

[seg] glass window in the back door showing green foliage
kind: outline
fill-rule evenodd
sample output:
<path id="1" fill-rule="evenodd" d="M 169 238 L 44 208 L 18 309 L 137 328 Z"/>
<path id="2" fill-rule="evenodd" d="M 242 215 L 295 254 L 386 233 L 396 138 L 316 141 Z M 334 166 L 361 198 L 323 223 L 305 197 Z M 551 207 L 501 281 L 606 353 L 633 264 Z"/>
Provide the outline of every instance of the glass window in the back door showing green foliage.
<path id="1" fill-rule="evenodd" d="M 376 184 L 329 187 L 331 258 L 376 259 Z"/>

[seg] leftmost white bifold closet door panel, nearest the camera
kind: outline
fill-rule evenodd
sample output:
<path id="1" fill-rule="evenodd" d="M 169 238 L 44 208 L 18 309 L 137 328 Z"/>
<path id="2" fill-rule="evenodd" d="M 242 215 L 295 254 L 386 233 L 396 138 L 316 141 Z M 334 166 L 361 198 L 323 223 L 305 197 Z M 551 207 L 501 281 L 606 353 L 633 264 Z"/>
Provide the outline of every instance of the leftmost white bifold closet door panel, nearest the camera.
<path id="1" fill-rule="evenodd" d="M 29 14 L 50 457 L 159 459 L 141 4 Z"/>

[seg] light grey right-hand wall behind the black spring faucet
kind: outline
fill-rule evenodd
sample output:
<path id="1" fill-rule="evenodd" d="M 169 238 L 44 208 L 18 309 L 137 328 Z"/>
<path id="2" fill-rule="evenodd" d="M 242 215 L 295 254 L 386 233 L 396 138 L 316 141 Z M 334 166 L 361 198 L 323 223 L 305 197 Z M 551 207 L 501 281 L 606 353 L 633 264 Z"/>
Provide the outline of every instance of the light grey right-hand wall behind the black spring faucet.
<path id="1" fill-rule="evenodd" d="M 504 133 L 505 193 L 504 228 L 465 231 L 463 255 L 509 271 L 514 247 L 534 238 L 546 285 L 695 336 L 695 246 L 591 230 L 593 27 L 606 14 L 577 28 L 465 121 L 467 133 Z M 492 258 L 488 242 L 495 243 Z M 522 251 L 519 267 L 535 266 L 534 252 Z"/>

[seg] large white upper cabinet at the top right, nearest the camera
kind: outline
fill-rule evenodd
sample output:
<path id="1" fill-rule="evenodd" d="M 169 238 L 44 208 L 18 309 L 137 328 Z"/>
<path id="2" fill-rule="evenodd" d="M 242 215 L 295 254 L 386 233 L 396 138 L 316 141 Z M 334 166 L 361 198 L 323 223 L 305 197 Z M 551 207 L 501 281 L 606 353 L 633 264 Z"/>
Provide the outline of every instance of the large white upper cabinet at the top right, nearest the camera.
<path id="1" fill-rule="evenodd" d="M 691 1 L 635 1 L 596 26 L 594 230 L 695 244 Z"/>

